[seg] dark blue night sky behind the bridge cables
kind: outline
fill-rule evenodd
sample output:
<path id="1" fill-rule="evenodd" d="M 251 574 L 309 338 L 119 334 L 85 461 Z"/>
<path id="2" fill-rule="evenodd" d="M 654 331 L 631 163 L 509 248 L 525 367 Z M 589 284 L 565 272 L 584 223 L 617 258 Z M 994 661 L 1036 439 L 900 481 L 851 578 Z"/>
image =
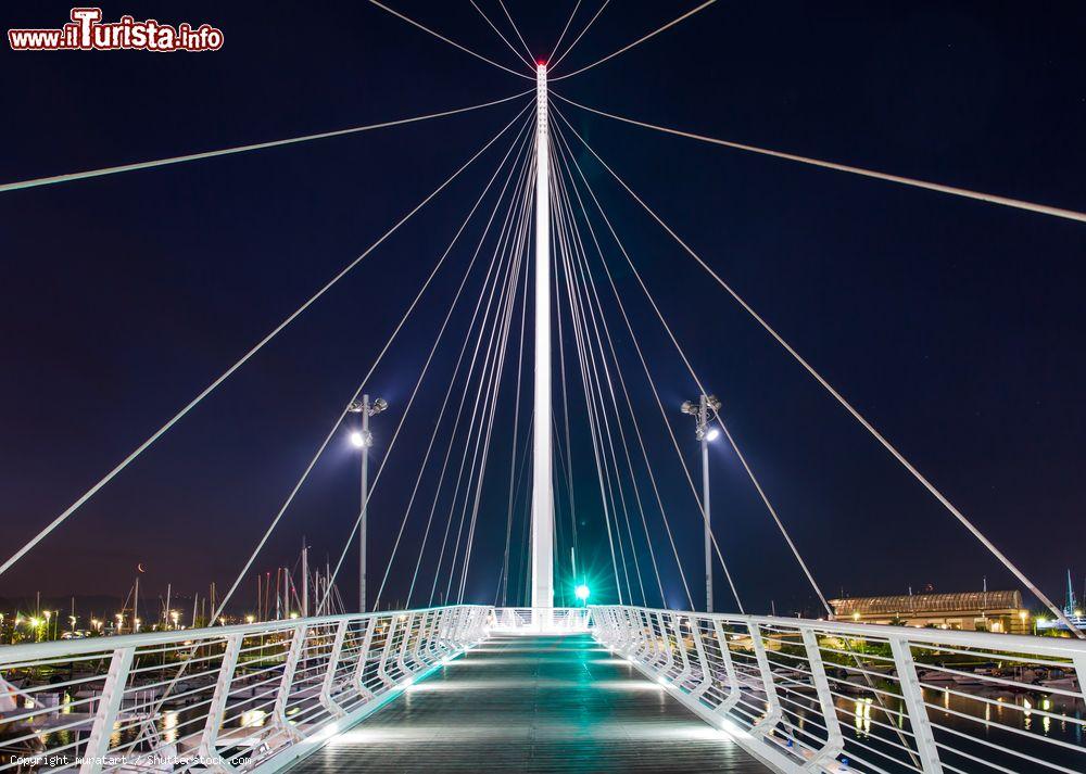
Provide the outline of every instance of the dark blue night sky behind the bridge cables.
<path id="1" fill-rule="evenodd" d="M 497 3 L 480 4 L 519 47 Z M 695 4 L 615 0 L 555 75 Z M 565 1 L 507 5 L 541 58 L 572 8 Z M 573 29 L 597 8 L 582 5 Z M 531 74 L 467 2 L 400 0 L 393 7 Z M 60 26 L 70 8 L 9 4 L 0 17 L 4 29 Z M 223 29 L 226 43 L 201 54 L 14 53 L 4 46 L 0 181 L 389 120 L 533 86 L 365 2 L 132 1 L 103 11 L 109 21 L 127 13 L 207 22 Z M 553 89 L 714 137 L 1083 211 L 1084 23 L 1086 11 L 1071 2 L 1044 9 L 718 2 Z M 414 207 L 528 100 L 0 194 L 3 558 Z M 678 233 L 1057 601 L 1069 568 L 1082 584 L 1082 224 L 705 145 L 558 104 Z M 27 598 L 36 591 L 124 596 L 138 562 L 152 595 L 167 582 L 185 594 L 203 594 L 212 581 L 228 585 L 508 141 L 495 144 L 0 578 L 0 597 Z M 926 584 L 973 589 L 985 575 L 989 588 L 1019 587 L 586 153 L 579 161 L 829 596 L 897 594 L 910 586 L 919 592 Z M 481 223 L 477 217 L 469 225 L 370 379 L 368 392 L 391 406 L 375 419 L 375 471 Z M 602 228 L 598 219 L 594 225 Z M 608 265 L 696 471 L 693 422 L 678 407 L 695 398 L 697 388 L 604 236 Z M 473 304 L 481 288 L 481 275 L 472 277 L 462 303 Z M 605 296 L 605 306 L 618 331 L 614 301 Z M 372 592 L 433 433 L 469 309 L 454 314 L 371 500 Z M 629 335 L 616 344 L 654 467 L 666 482 L 661 495 L 697 600 L 702 525 L 695 503 Z M 530 348 L 525 357 L 530 361 Z M 467 584 L 467 597 L 479 602 L 494 601 L 505 543 L 513 363 L 500 396 Z M 574 372 L 570 385 L 580 395 Z M 579 549 L 599 576 L 593 601 L 603 602 L 613 598 L 610 560 L 583 397 L 574 406 Z M 527 415 L 521 432 L 525 422 Z M 439 431 L 434 454 L 443 453 L 447 439 L 447 430 Z M 432 461 L 428 471 L 426 507 L 413 511 L 382 605 L 405 599 L 437 480 Z M 757 494 L 719 442 L 711 475 L 718 538 L 747 610 L 768 611 L 774 600 L 781 612 L 817 612 Z M 685 607 L 659 515 L 648 508 L 652 495 L 642 485 L 666 601 Z M 513 531 L 513 588 L 523 576 L 522 495 Z M 293 564 L 303 534 L 316 562 L 326 555 L 334 562 L 357 496 L 357 454 L 344 430 L 250 575 Z M 439 507 L 438 529 L 446 512 Z M 640 523 L 632 509 L 630 516 Z M 565 495 L 559 518 L 568 524 Z M 567 537 L 568 530 L 561 534 Z M 566 556 L 568 543 L 561 542 L 559 558 Z M 341 581 L 349 605 L 356 561 L 349 554 Z M 431 564 L 424 562 L 420 581 L 427 592 Z M 239 594 L 249 604 L 255 581 L 247 579 Z M 425 596 L 413 604 L 425 604 Z M 641 601 L 640 593 L 635 598 Z M 722 582 L 717 598 L 718 608 L 734 609 Z M 658 595 L 651 593 L 648 601 L 658 605 Z"/>

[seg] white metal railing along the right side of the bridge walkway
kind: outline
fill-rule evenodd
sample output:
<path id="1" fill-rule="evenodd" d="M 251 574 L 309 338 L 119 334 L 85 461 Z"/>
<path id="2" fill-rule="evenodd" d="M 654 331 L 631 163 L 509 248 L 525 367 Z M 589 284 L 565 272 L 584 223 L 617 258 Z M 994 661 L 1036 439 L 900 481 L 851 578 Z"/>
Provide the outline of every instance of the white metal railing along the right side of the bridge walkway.
<path id="1" fill-rule="evenodd" d="M 592 625 L 778 771 L 1086 771 L 1082 640 L 635 607 Z"/>

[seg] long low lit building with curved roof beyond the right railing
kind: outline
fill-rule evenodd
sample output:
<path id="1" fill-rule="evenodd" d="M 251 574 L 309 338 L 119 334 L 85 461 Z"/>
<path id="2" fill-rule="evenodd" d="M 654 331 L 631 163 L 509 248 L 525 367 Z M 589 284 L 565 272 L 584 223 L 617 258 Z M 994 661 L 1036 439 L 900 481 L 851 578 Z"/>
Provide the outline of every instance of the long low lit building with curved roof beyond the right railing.
<path id="1" fill-rule="evenodd" d="M 831 599 L 832 621 L 937 626 L 969 632 L 1030 633 L 1030 611 L 1021 592 L 905 594 L 895 597 Z"/>

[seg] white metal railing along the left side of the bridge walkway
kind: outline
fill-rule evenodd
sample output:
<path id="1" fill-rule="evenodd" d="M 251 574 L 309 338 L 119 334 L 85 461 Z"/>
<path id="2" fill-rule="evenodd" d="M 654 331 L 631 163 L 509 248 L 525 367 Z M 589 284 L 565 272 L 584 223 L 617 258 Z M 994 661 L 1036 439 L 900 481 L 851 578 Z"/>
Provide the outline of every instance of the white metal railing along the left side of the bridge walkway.
<path id="1" fill-rule="evenodd" d="M 274 771 L 487 636 L 456 606 L 0 647 L 0 772 Z"/>

